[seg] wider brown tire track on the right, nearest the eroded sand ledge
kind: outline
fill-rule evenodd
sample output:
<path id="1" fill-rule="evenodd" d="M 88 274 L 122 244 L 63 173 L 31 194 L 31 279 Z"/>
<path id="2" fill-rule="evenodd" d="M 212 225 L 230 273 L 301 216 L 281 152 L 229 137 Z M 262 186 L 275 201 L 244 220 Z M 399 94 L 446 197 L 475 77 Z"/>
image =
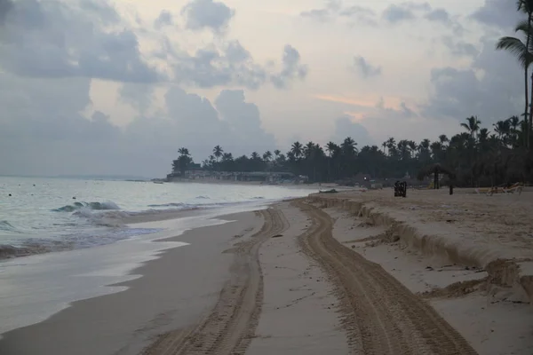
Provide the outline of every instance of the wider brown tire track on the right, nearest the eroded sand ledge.
<path id="1" fill-rule="evenodd" d="M 429 304 L 379 264 L 335 240 L 333 221 L 327 213 L 302 200 L 292 203 L 313 220 L 298 242 L 335 285 L 352 353 L 476 354 Z"/>

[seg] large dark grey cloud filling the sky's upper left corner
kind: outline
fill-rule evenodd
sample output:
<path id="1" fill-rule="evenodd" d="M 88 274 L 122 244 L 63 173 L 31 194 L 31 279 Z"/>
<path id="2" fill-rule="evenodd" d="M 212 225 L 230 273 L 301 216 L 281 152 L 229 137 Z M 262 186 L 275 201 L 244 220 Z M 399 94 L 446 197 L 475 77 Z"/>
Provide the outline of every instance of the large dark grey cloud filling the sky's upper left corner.
<path id="1" fill-rule="evenodd" d="M 17 1 L 4 19 L 0 66 L 21 76 L 164 80 L 166 75 L 143 59 L 131 30 L 103 30 L 118 18 L 106 2 Z"/>

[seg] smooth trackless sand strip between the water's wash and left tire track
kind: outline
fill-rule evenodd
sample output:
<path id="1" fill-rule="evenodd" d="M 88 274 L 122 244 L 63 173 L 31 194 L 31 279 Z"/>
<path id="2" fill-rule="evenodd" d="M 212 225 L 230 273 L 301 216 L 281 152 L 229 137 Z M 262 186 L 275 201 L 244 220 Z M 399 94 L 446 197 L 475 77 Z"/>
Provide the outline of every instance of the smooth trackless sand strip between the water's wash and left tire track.
<path id="1" fill-rule="evenodd" d="M 128 272 L 134 280 L 105 287 L 124 288 L 119 292 L 72 302 L 68 308 L 43 321 L 4 333 L 0 352 L 89 355 L 123 351 L 121 353 L 134 354 L 165 329 L 193 322 L 216 301 L 219 288 L 230 276 L 231 256 L 223 251 L 235 235 L 248 231 L 243 233 L 245 237 L 260 226 L 260 218 L 254 212 L 217 219 L 225 223 L 196 227 L 178 236 L 154 241 L 156 244 L 179 241 L 188 245 L 158 252 L 155 258 Z M 211 238 L 214 234 L 219 236 L 216 241 Z M 203 258 L 210 263 L 197 262 Z M 191 273 L 192 265 L 194 272 Z M 94 339 L 99 342 L 94 343 Z"/>

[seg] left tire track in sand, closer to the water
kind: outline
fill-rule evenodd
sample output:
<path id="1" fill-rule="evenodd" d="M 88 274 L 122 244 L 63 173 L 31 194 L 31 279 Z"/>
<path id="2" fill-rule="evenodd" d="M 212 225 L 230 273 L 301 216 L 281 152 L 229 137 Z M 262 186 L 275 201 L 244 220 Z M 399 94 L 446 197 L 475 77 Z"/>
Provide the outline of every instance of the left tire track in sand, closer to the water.
<path id="1" fill-rule="evenodd" d="M 235 245 L 232 276 L 220 291 L 219 301 L 195 327 L 161 335 L 144 355 L 244 354 L 259 323 L 263 303 L 263 275 L 259 247 L 287 229 L 278 209 L 259 211 L 264 224 L 249 241 Z"/>

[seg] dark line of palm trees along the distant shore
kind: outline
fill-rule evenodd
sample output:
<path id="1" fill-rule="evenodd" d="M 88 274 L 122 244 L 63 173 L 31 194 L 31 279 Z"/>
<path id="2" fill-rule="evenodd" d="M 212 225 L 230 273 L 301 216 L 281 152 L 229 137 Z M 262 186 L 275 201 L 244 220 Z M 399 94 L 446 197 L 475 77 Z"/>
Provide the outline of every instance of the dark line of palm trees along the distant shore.
<path id="1" fill-rule="evenodd" d="M 531 178 L 531 154 L 523 145 L 526 123 L 516 116 L 481 128 L 473 116 L 461 123 L 463 132 L 448 138 L 421 142 L 388 138 L 381 146 L 358 148 L 352 138 L 320 146 L 294 142 L 290 150 L 234 157 L 221 146 L 203 161 L 202 168 L 211 171 L 283 171 L 309 177 L 313 182 L 347 180 L 358 173 L 374 179 L 417 177 L 420 170 L 439 163 L 455 175 L 455 184 L 503 185 Z M 173 170 L 184 172 L 192 159 L 187 148 L 179 149 Z"/>

